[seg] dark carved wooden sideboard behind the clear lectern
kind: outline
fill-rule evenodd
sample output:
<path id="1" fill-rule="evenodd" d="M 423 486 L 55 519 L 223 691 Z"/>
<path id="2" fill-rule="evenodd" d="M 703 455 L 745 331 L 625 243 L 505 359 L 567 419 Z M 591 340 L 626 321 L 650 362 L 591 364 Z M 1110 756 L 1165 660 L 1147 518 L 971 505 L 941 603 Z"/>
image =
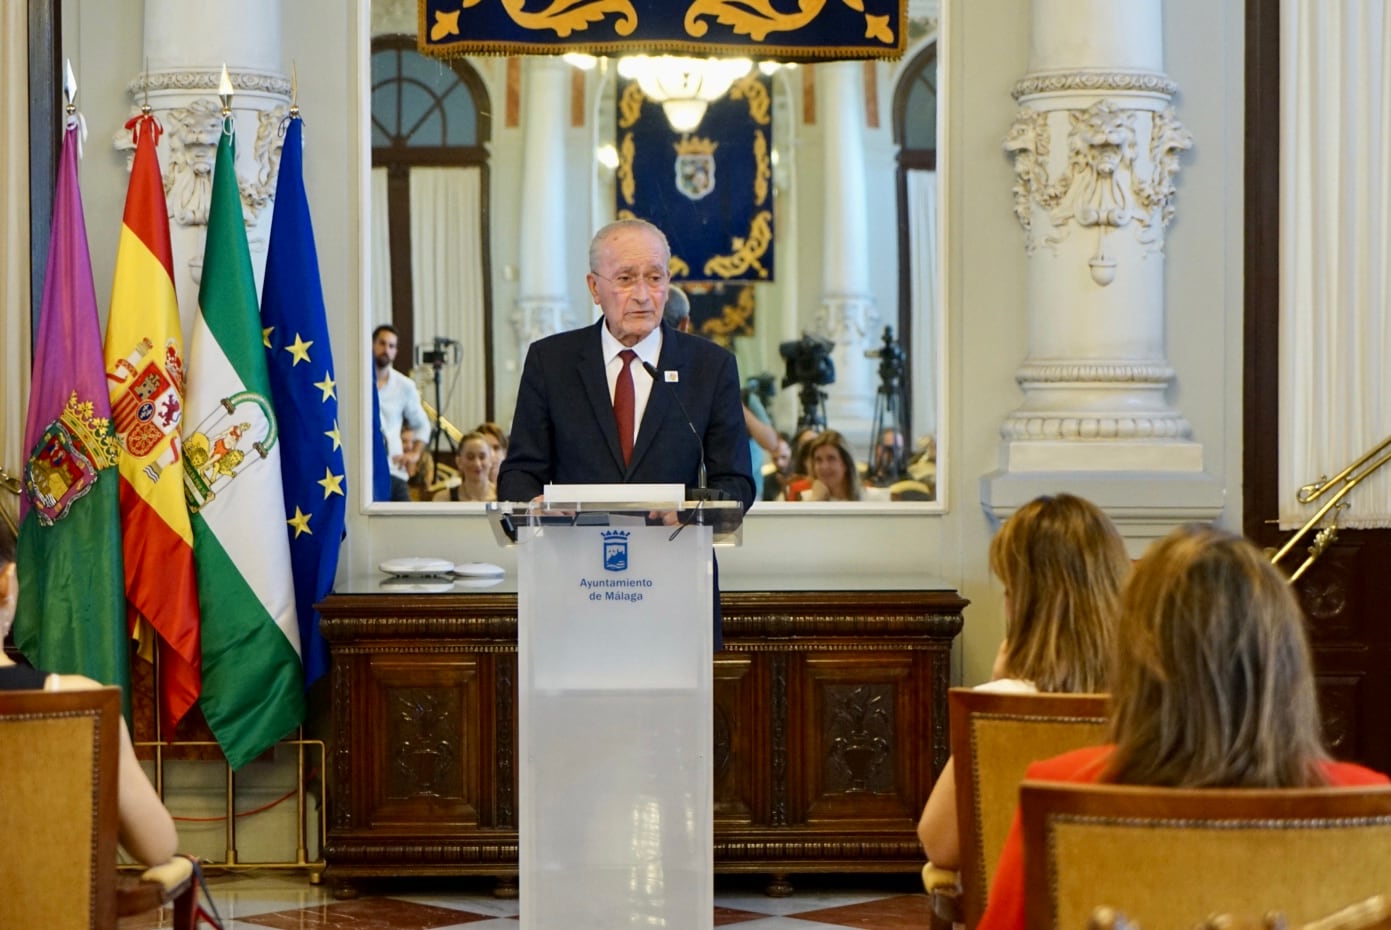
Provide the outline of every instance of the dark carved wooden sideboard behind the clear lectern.
<path id="1" fill-rule="evenodd" d="M 515 894 L 515 591 L 357 591 L 320 605 L 324 880 L 351 897 L 360 879 L 481 874 Z M 922 867 L 917 819 L 949 755 L 967 603 L 912 585 L 723 592 L 716 872 L 764 873 L 787 894 L 794 873 Z"/>

